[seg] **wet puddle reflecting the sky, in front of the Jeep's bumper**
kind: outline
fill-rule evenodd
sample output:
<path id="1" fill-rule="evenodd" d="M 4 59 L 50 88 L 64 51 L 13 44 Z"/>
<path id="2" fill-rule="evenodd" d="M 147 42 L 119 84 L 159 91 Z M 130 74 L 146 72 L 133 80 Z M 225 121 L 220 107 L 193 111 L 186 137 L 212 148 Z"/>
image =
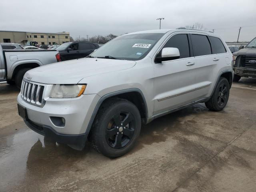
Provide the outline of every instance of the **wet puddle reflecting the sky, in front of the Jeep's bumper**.
<path id="1" fill-rule="evenodd" d="M 86 151 L 76 151 L 72 148 L 52 142 L 44 136 L 30 130 L 18 132 L 0 139 L 0 186 L 18 186 L 33 175 L 40 179 L 61 168 L 68 168 L 77 159 L 84 158 Z M 64 167 L 63 167 L 64 166 Z M 0 187 L 0 191 L 1 187 Z"/>

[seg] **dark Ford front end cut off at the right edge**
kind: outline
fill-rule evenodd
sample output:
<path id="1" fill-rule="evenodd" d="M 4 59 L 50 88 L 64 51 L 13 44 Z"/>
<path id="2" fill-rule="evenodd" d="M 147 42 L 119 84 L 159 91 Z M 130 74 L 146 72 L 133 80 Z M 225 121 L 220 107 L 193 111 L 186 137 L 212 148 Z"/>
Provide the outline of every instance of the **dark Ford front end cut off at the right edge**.
<path id="1" fill-rule="evenodd" d="M 238 82 L 241 77 L 256 77 L 256 38 L 233 55 L 236 56 L 233 81 Z"/>

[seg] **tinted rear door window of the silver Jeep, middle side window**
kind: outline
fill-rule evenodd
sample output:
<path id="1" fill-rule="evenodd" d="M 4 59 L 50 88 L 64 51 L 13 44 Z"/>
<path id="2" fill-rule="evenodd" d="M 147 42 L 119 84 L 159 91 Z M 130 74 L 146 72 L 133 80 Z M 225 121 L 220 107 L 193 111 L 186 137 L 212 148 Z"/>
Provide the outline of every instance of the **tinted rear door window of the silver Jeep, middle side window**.
<path id="1" fill-rule="evenodd" d="M 210 42 L 205 35 L 191 35 L 194 56 L 212 54 Z"/>

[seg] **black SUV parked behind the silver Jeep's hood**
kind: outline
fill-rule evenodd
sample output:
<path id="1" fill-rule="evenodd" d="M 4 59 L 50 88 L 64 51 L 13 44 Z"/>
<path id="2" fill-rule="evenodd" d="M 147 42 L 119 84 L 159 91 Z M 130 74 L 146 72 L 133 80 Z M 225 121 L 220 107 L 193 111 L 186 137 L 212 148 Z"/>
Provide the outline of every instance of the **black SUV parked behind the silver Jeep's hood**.
<path id="1" fill-rule="evenodd" d="M 56 50 L 60 53 L 62 61 L 83 58 L 98 49 L 99 45 L 90 42 L 68 42 L 64 43 Z"/>

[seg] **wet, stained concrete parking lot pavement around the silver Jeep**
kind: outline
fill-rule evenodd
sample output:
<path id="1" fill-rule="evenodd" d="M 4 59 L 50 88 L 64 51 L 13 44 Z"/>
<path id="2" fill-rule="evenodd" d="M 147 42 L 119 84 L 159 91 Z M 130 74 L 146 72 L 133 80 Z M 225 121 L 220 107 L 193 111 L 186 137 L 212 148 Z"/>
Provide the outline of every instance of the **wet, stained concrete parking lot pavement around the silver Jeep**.
<path id="1" fill-rule="evenodd" d="M 26 127 L 14 86 L 0 85 L 0 191 L 218 191 L 256 189 L 256 78 L 242 78 L 221 112 L 204 104 L 142 127 L 137 146 L 106 158 Z"/>

